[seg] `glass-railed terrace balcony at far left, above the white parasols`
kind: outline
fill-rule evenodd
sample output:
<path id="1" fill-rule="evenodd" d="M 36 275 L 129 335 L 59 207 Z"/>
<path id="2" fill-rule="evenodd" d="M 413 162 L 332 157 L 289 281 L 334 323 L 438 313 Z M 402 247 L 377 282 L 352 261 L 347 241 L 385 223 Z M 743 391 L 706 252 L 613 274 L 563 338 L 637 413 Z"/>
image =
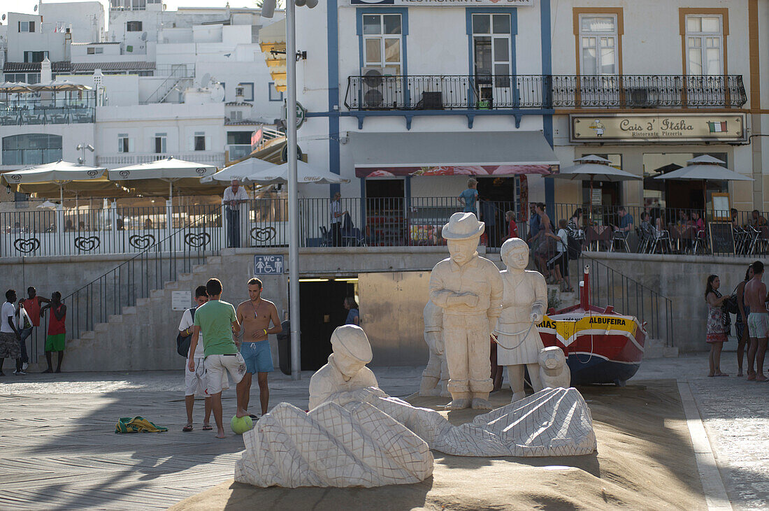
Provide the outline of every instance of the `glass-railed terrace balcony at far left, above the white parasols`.
<path id="1" fill-rule="evenodd" d="M 53 99 L 0 96 L 0 126 L 95 122 L 95 97 L 92 91 L 84 91 L 82 96 Z"/>

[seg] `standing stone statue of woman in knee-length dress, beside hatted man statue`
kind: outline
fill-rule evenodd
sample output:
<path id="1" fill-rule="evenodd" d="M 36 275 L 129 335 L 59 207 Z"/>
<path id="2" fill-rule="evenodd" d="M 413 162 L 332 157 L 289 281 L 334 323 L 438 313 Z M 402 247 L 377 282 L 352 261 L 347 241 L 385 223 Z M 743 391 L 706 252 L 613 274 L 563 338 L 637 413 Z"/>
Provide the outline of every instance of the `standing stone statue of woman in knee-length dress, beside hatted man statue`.
<path id="1" fill-rule="evenodd" d="M 539 350 L 544 345 L 537 324 L 548 307 L 548 286 L 539 272 L 526 270 L 529 248 L 521 238 L 505 241 L 500 252 L 507 270 L 501 271 L 504 282 L 502 315 L 494 330 L 498 340 L 497 363 L 508 367 L 513 401 L 518 401 L 526 397 L 525 367 L 528 367 L 534 392 L 542 389 Z"/>

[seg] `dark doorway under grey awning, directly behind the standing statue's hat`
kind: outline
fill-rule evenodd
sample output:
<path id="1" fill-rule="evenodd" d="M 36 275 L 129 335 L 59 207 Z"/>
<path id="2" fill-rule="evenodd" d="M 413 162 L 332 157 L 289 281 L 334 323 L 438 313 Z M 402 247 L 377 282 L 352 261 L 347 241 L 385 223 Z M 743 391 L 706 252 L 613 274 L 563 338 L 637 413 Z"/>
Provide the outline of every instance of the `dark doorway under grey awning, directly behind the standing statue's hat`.
<path id="1" fill-rule="evenodd" d="M 500 247 L 508 235 L 508 224 L 504 221 L 505 211 L 518 211 L 516 206 L 521 194 L 520 178 L 478 178 L 478 214 L 486 224 L 488 247 Z"/>

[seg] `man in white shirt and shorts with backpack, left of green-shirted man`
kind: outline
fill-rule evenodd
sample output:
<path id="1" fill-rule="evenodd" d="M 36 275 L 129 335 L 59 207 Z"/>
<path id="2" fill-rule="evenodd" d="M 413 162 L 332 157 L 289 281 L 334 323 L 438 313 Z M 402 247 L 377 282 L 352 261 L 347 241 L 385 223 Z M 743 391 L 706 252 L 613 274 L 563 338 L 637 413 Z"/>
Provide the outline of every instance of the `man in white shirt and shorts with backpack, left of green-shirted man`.
<path id="1" fill-rule="evenodd" d="M 208 301 L 208 294 L 205 292 L 205 286 L 198 286 L 195 289 L 195 303 L 198 307 L 205 304 Z M 184 314 L 181 314 L 181 321 L 179 322 L 179 333 L 182 337 L 188 337 L 192 335 L 193 324 L 192 318 L 195 317 L 195 310 L 198 307 L 192 307 L 185 310 Z M 201 336 L 202 338 L 202 336 Z M 189 357 L 189 353 L 187 353 Z M 203 354 L 203 343 L 198 340 L 198 347 L 195 348 L 195 370 L 189 370 L 185 361 L 185 406 L 187 408 L 187 424 L 182 431 L 188 432 L 192 430 L 192 409 L 195 406 L 195 397 L 205 397 L 205 418 L 203 419 L 203 430 L 212 430 L 211 424 L 208 419 L 211 417 L 211 396 L 208 394 L 208 378 L 205 373 L 205 356 Z M 222 375 L 221 387 L 228 389 L 227 373 Z"/>

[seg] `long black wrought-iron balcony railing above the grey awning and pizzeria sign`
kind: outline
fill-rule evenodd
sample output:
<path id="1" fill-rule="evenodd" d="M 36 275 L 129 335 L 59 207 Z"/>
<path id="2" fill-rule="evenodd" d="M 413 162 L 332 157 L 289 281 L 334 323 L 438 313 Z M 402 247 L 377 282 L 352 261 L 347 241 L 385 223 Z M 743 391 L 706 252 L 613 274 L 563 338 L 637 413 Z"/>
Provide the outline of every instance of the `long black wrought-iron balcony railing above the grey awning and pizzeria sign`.
<path id="1" fill-rule="evenodd" d="M 365 75 L 348 77 L 349 110 L 740 108 L 741 75 Z"/>

